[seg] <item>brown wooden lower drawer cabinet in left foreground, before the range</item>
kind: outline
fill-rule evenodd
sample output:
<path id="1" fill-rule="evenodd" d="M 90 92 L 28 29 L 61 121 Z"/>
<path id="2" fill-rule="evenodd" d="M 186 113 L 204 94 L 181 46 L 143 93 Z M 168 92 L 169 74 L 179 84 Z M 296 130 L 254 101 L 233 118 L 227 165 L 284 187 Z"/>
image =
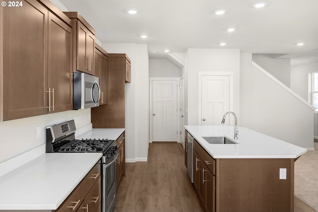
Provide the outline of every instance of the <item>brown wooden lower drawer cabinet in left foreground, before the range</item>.
<path id="1" fill-rule="evenodd" d="M 101 163 L 98 162 L 61 206 L 52 212 L 101 212 L 100 172 Z"/>

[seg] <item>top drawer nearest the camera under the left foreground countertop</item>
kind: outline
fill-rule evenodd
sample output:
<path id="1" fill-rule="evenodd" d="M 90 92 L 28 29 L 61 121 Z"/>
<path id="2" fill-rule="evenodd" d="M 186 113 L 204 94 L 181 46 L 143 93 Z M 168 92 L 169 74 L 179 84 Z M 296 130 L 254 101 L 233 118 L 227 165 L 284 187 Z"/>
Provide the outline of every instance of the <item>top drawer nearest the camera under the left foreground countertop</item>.
<path id="1" fill-rule="evenodd" d="M 83 203 L 86 194 L 85 183 L 82 181 L 55 212 L 76 212 L 79 206 Z"/>

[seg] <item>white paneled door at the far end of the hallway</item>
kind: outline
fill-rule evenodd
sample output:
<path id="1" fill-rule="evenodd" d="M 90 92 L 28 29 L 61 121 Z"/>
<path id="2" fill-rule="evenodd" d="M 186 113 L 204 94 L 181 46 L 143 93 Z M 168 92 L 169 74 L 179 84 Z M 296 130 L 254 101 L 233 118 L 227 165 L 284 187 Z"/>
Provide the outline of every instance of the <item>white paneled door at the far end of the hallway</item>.
<path id="1" fill-rule="evenodd" d="M 153 81 L 153 141 L 177 141 L 177 81 Z"/>

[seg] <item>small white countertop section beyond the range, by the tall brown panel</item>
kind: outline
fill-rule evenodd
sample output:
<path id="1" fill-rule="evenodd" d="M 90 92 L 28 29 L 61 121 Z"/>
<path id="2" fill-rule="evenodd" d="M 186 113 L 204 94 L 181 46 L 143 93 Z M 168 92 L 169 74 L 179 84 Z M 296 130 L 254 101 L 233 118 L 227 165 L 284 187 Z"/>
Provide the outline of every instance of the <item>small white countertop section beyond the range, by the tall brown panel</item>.
<path id="1" fill-rule="evenodd" d="M 109 139 L 117 140 L 119 136 L 125 131 L 125 128 L 94 128 L 89 129 L 81 134 L 75 133 L 76 139 L 95 138 L 95 139 Z"/>

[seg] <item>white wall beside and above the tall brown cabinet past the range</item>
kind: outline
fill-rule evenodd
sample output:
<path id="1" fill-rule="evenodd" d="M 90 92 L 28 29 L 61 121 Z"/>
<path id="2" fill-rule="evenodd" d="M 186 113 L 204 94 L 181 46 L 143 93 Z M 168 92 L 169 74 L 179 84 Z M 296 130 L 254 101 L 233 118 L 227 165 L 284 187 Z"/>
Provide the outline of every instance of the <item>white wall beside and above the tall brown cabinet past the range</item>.
<path id="1" fill-rule="evenodd" d="M 149 141 L 149 59 L 148 50 L 146 51 L 147 45 L 103 43 L 102 48 L 108 53 L 126 53 L 131 59 L 131 83 L 125 84 L 126 162 L 146 161 Z"/>

